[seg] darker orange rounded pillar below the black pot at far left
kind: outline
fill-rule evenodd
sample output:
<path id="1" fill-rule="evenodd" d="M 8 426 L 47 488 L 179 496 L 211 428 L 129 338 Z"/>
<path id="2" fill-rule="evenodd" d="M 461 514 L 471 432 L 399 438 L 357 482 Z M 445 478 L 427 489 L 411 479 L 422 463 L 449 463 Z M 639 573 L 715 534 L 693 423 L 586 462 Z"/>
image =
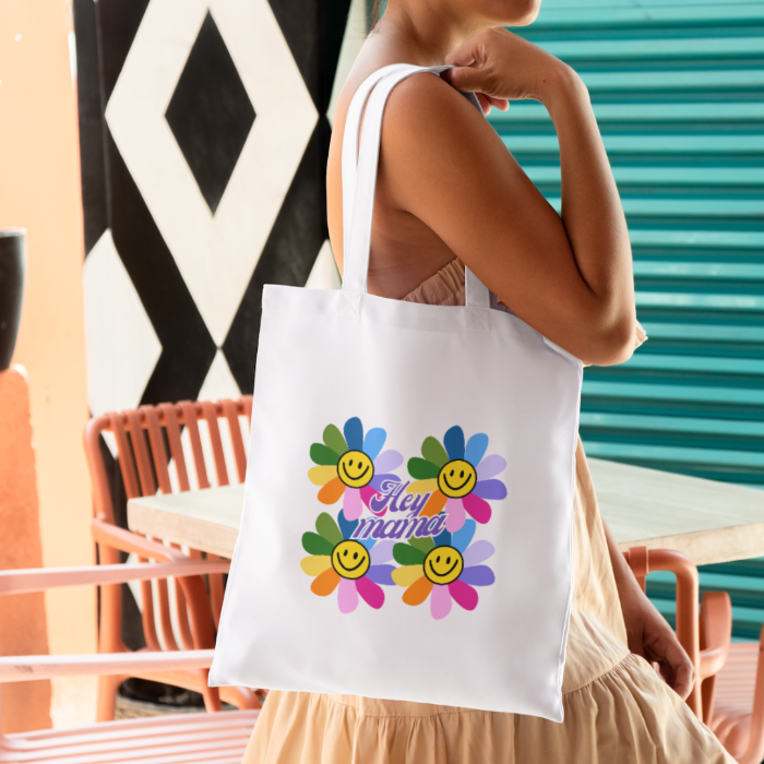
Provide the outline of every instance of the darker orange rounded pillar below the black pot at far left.
<path id="1" fill-rule="evenodd" d="M 39 568 L 35 455 L 32 450 L 29 390 L 22 367 L 0 371 L 0 570 Z M 48 652 L 43 594 L 9 595 L 0 599 L 0 655 Z M 21 682 L 2 688 L 5 732 L 50 727 L 50 682 Z"/>

